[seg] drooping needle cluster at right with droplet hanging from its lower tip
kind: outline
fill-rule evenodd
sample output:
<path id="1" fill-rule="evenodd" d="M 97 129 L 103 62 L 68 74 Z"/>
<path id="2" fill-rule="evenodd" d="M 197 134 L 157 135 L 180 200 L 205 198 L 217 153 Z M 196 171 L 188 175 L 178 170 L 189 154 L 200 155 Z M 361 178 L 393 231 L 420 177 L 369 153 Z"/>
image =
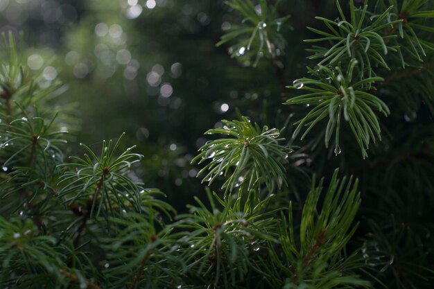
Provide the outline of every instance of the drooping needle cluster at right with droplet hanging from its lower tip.
<path id="1" fill-rule="evenodd" d="M 306 104 L 315 107 L 309 114 L 306 114 L 304 119 L 295 123 L 298 126 L 294 132 L 294 137 L 297 136 L 303 125 L 309 125 L 309 128 L 302 135 L 302 139 L 304 139 L 316 123 L 329 116 L 325 132 L 325 144 L 326 147 L 329 145 L 333 130 L 336 130 L 335 153 L 338 155 L 340 154 L 340 119 L 343 116 L 345 121 L 349 122 L 363 157 L 367 157 L 366 150 L 369 148 L 370 139 L 374 143 L 376 139 L 381 141 L 380 124 L 372 108 L 383 112 L 385 116 L 390 114 L 390 110 L 381 99 L 367 91 L 374 89 L 372 83 L 382 81 L 383 78 L 364 78 L 354 82 L 353 77 L 356 72 L 354 68 L 357 64 L 357 60 L 351 60 L 345 76 L 339 67 L 332 70 L 320 66 L 318 71 L 309 69 L 309 72 L 318 80 L 300 78 L 294 81 L 294 85 L 290 88 L 307 90 L 311 93 L 290 98 L 285 104 Z"/>

